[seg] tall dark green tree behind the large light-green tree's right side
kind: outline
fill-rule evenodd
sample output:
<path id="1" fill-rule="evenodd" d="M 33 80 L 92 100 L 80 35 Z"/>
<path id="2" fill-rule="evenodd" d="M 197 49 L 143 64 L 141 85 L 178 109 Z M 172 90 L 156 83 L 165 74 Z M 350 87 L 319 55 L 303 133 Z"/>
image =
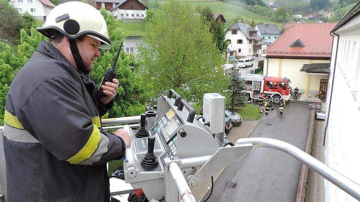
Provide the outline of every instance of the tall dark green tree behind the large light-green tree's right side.
<path id="1" fill-rule="evenodd" d="M 213 40 L 216 42 L 216 47 L 220 52 L 225 52 L 228 47 L 228 42 L 225 41 L 226 32 L 224 30 L 224 24 L 216 23 L 214 14 L 209 6 L 206 6 L 200 10 L 200 14 L 203 17 L 203 22 L 210 25 L 210 32 L 213 35 Z"/>

